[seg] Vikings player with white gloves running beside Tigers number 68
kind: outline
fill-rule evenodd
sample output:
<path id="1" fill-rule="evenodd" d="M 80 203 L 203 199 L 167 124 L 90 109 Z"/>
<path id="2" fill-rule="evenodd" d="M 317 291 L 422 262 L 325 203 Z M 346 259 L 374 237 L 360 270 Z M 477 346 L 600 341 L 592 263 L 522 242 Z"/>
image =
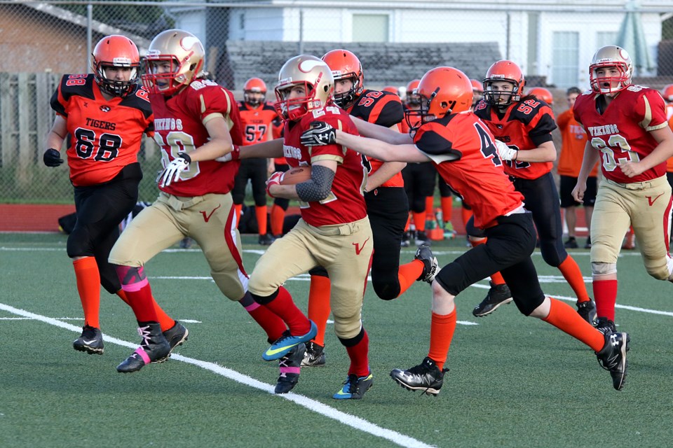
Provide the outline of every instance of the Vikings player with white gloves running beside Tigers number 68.
<path id="1" fill-rule="evenodd" d="M 147 50 L 142 81 L 150 92 L 164 170 L 157 179 L 159 197 L 131 221 L 110 253 L 142 335 L 140 348 L 118 372 L 135 372 L 170 354 L 173 344 L 159 331 L 148 300 L 144 265 L 184 237 L 198 243 L 215 284 L 245 307 L 269 339 L 285 330 L 280 318 L 247 293 L 230 193 L 238 162 L 215 160 L 241 144 L 238 106 L 229 90 L 203 78 L 203 58 L 198 38 L 180 29 L 159 33 Z"/>

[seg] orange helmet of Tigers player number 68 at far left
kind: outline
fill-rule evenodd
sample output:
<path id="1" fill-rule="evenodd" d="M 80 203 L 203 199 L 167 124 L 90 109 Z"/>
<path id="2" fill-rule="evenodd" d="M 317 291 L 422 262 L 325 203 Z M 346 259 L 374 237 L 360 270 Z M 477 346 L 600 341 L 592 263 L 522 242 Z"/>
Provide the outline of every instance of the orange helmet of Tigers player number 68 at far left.
<path id="1" fill-rule="evenodd" d="M 113 34 L 102 38 L 91 54 L 93 76 L 100 87 L 113 97 L 125 97 L 135 90 L 140 77 L 140 55 L 138 48 L 130 38 Z M 106 67 L 130 67 L 131 76 L 128 81 L 108 79 Z"/>

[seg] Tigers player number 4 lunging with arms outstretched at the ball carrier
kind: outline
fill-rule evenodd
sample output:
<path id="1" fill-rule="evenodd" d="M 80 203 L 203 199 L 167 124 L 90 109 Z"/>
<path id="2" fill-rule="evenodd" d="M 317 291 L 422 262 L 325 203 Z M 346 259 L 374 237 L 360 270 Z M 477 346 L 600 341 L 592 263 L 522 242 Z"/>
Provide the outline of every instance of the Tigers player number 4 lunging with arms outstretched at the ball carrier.
<path id="1" fill-rule="evenodd" d="M 493 134 L 474 113 L 472 86 L 465 73 L 437 67 L 419 84 L 421 122 L 411 137 L 355 120 L 366 137 L 341 132 L 327 123 L 312 123 L 301 137 L 304 145 L 341 144 L 379 160 L 409 163 L 432 161 L 451 188 L 463 195 L 475 212 L 475 225 L 484 229 L 485 244 L 467 251 L 444 266 L 432 283 L 433 309 L 430 350 L 420 365 L 390 372 L 409 390 L 437 395 L 444 381 L 444 363 L 456 328 L 454 299 L 476 281 L 501 270 L 519 311 L 541 318 L 596 351 L 601 365 L 610 370 L 619 390 L 626 377 L 627 333 L 603 335 L 568 304 L 545 296 L 531 260 L 535 228 L 524 209 L 523 195 L 503 173 Z M 318 146 L 312 146 L 313 150 Z"/>

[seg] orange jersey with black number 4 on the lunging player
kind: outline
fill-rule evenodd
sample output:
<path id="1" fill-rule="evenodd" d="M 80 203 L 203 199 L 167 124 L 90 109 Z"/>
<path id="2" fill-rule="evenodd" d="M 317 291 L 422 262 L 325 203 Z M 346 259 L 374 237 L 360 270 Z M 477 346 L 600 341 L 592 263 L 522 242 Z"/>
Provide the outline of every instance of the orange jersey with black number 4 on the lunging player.
<path id="1" fill-rule="evenodd" d="M 522 207 L 524 197 L 503 171 L 493 134 L 474 113 L 424 123 L 414 136 L 419 151 L 475 212 L 475 226 L 489 228 L 498 216 Z"/>

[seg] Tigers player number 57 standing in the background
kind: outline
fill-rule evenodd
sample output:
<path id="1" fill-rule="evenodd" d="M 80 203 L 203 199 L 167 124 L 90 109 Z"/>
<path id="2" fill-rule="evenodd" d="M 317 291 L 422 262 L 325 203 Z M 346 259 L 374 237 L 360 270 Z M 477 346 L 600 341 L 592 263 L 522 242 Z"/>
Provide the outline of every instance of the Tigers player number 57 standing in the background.
<path id="1" fill-rule="evenodd" d="M 240 121 L 243 127 L 243 145 L 252 145 L 260 141 L 273 139 L 273 120 L 278 118 L 276 109 L 266 103 L 266 83 L 260 78 L 250 78 L 243 85 L 243 101 L 238 104 Z M 268 159 L 241 160 L 231 196 L 236 207 L 236 216 L 240 217 L 245 198 L 245 187 L 250 180 L 254 198 L 254 214 L 259 227 L 258 242 L 268 246 L 273 242 L 266 229 L 266 178 L 268 178 Z M 238 219 L 237 219 L 238 221 Z"/>

